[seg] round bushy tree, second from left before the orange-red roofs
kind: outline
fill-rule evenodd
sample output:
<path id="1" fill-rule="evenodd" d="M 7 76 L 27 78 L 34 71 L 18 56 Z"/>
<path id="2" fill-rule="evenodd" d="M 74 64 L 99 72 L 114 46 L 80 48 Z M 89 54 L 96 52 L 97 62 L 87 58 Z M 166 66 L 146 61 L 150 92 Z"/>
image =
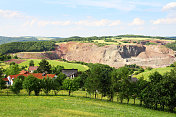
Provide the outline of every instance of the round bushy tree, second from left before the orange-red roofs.
<path id="1" fill-rule="evenodd" d="M 26 89 L 26 91 L 28 92 L 28 95 L 30 95 L 31 92 L 34 91 L 35 95 L 38 96 L 42 88 L 41 81 L 35 78 L 33 75 L 29 75 L 23 81 L 23 88 Z"/>

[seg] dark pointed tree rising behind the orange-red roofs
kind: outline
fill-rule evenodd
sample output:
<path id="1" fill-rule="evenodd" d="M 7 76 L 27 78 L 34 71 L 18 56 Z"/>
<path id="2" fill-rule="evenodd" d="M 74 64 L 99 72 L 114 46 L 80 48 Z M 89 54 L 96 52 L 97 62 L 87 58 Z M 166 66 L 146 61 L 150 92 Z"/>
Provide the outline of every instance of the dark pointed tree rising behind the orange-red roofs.
<path id="1" fill-rule="evenodd" d="M 39 73 L 51 73 L 51 65 L 46 59 L 42 59 L 41 62 L 39 63 L 39 67 L 37 69 Z"/>

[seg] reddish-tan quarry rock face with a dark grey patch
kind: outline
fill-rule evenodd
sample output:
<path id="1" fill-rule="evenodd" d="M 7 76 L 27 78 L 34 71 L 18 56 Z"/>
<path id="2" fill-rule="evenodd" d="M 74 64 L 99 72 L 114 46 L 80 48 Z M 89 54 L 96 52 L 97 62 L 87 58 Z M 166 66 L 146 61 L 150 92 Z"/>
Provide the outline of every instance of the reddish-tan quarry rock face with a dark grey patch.
<path id="1" fill-rule="evenodd" d="M 174 51 L 161 45 L 106 45 L 68 42 L 56 48 L 59 58 L 68 61 L 102 63 L 112 67 L 137 64 L 145 67 L 165 67 L 175 61 Z"/>

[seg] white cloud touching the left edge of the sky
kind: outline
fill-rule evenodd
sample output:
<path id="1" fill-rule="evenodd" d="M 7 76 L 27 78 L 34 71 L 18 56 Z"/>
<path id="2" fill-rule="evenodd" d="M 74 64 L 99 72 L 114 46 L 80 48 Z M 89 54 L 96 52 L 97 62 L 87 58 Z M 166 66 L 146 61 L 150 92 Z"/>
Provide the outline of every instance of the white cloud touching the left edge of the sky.
<path id="1" fill-rule="evenodd" d="M 22 13 L 18 11 L 11 11 L 11 10 L 2 10 L 0 9 L 0 16 L 5 18 L 19 18 L 25 17 Z"/>

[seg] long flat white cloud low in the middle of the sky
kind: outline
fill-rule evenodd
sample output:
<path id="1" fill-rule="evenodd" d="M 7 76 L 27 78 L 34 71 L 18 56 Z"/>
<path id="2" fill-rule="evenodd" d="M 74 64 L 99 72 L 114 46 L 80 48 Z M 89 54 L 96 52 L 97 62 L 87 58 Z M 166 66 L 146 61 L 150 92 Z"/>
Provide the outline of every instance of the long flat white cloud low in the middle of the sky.
<path id="1" fill-rule="evenodd" d="M 80 20 L 75 22 L 75 24 L 83 26 L 117 26 L 120 24 L 120 20 Z"/>

